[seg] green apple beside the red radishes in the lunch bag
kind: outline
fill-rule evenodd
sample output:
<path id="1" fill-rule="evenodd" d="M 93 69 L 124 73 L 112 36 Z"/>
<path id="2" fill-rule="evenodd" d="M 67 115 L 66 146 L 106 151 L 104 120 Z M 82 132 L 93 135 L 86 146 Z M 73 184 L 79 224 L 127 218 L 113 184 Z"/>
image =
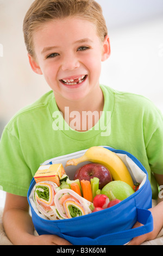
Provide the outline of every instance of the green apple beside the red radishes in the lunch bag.
<path id="1" fill-rule="evenodd" d="M 110 196 L 110 191 L 112 192 L 112 194 L 114 194 L 116 199 L 119 199 L 121 201 L 131 196 L 131 194 L 135 193 L 130 185 L 121 180 L 114 180 L 106 184 L 102 188 L 101 194 L 105 194 L 111 200 L 112 198 Z"/>

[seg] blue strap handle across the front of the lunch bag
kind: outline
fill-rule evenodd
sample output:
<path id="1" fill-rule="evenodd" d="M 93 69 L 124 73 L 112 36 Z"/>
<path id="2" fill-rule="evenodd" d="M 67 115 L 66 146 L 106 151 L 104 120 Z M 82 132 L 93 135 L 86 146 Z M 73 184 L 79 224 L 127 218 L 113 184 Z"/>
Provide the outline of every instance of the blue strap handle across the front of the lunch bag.
<path id="1" fill-rule="evenodd" d="M 153 230 L 153 217 L 151 211 L 137 208 L 137 221 L 143 225 L 138 228 L 105 234 L 96 237 L 95 239 L 91 239 L 90 237 L 72 237 L 65 234 L 62 235 L 73 245 L 123 245 L 133 239 L 133 237 L 149 233 Z"/>

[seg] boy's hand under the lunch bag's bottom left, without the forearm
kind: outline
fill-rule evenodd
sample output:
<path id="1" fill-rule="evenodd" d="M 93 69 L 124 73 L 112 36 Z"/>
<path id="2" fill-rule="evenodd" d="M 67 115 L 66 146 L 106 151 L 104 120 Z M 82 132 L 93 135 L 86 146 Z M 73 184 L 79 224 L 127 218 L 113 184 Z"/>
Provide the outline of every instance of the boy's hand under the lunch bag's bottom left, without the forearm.
<path id="1" fill-rule="evenodd" d="M 33 236 L 30 245 L 72 245 L 57 235 Z"/>

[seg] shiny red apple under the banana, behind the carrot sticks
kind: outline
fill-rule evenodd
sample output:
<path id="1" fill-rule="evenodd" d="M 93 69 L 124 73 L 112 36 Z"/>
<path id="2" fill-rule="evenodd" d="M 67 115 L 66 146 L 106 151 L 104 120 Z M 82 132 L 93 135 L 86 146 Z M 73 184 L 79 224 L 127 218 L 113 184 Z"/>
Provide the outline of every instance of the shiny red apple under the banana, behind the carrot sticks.
<path id="1" fill-rule="evenodd" d="M 97 177 L 99 179 L 99 189 L 112 181 L 112 176 L 109 170 L 99 163 L 88 163 L 76 170 L 74 180 L 89 180 Z"/>

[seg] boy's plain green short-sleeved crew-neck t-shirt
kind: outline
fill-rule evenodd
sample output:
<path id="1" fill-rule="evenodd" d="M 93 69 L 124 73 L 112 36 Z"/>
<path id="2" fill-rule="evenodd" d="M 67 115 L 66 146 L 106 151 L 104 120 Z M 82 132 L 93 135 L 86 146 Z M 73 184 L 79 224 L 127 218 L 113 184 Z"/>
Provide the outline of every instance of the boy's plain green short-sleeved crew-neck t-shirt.
<path id="1" fill-rule="evenodd" d="M 153 195 L 158 193 L 152 173 L 163 174 L 160 111 L 143 96 L 101 88 L 103 114 L 89 131 L 78 132 L 67 125 L 52 91 L 9 121 L 0 142 L 0 185 L 4 191 L 27 196 L 41 163 L 94 145 L 108 145 L 133 154 L 149 174 Z"/>

